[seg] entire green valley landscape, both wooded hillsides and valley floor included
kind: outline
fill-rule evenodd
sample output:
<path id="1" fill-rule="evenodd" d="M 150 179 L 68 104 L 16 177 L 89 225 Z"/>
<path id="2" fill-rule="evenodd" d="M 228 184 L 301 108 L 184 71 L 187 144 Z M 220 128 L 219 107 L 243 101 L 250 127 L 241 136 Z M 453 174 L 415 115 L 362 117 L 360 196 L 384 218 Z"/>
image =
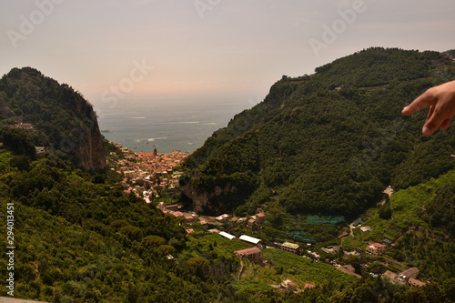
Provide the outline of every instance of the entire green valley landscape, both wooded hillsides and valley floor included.
<path id="1" fill-rule="evenodd" d="M 178 165 L 178 189 L 136 174 L 146 157 L 104 139 L 81 94 L 15 68 L 0 81 L 0 296 L 455 302 L 455 131 L 400 115 L 454 78 L 453 54 L 382 47 L 283 76 Z"/>

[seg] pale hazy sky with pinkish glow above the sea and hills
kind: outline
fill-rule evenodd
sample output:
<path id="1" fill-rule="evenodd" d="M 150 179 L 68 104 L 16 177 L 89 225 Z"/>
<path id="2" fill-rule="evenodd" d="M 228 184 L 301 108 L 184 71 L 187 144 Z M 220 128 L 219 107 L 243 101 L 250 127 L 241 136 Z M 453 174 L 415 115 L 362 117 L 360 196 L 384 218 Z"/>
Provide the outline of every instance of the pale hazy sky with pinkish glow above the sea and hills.
<path id="1" fill-rule="evenodd" d="M 0 74 L 32 66 L 93 104 L 256 101 L 282 75 L 369 46 L 453 49 L 454 12 L 453 0 L 2 0 Z"/>

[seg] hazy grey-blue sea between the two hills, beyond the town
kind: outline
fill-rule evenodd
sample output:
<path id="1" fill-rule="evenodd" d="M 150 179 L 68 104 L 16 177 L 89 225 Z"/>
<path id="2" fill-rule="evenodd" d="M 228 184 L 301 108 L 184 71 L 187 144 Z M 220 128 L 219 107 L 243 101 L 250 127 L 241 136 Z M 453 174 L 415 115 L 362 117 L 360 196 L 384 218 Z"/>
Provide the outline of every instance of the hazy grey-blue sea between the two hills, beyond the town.
<path id="1" fill-rule="evenodd" d="M 195 151 L 214 131 L 252 105 L 247 101 L 173 99 L 122 100 L 109 106 L 94 105 L 106 139 L 136 152 L 152 152 L 157 147 L 159 154 L 167 154 L 174 150 Z"/>

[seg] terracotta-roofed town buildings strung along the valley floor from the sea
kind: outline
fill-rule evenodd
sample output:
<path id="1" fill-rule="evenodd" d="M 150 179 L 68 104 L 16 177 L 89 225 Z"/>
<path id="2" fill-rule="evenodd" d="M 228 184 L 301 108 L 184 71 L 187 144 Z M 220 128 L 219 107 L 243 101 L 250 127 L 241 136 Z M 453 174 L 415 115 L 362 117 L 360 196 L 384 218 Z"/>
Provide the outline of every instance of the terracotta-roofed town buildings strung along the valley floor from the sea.
<path id="1" fill-rule="evenodd" d="M 158 154 L 156 148 L 152 153 L 136 153 L 126 147 L 120 145 L 116 146 L 121 150 L 122 154 L 118 155 L 115 152 L 110 154 L 110 157 L 114 160 L 114 167 L 116 167 L 111 169 L 116 170 L 117 173 L 124 176 L 121 184 L 127 194 L 133 193 L 136 197 L 143 198 L 145 203 L 150 204 L 152 201 L 159 201 L 160 193 L 165 188 L 167 190 L 178 191 L 178 180 L 183 174 L 180 166 L 189 154 L 182 153 L 178 150 L 175 150 L 170 154 Z M 387 188 L 385 192 L 387 192 L 390 196 L 393 190 L 391 188 Z M 187 226 L 188 235 L 195 232 L 194 229 L 190 227 L 197 223 L 198 225 L 204 227 L 208 233 L 216 233 L 219 237 L 225 237 L 228 240 L 239 240 L 251 244 L 252 247 L 250 248 L 233 251 L 233 253 L 240 258 L 241 264 L 243 264 L 244 259 L 257 263 L 261 266 L 271 264 L 269 260 L 262 257 L 261 251 L 265 247 L 278 248 L 296 255 L 301 255 L 303 258 L 311 258 L 316 262 L 319 261 L 319 259 L 322 259 L 321 256 L 324 255 L 326 257 L 324 258 L 326 263 L 331 264 L 333 267 L 338 268 L 340 271 L 348 275 L 361 278 L 361 276 L 356 273 L 355 268 L 350 264 L 340 264 L 330 257 L 339 255 L 340 245 L 317 247 L 315 245 L 317 238 L 312 237 L 300 237 L 299 239 L 303 242 L 308 242 L 303 245 L 302 243 L 297 244 L 290 241 L 263 243 L 263 241 L 257 237 L 251 237 L 248 235 L 236 237 L 227 233 L 229 228 L 241 226 L 244 227 L 244 230 L 246 231 L 250 230 L 250 235 L 254 235 L 254 231 L 261 229 L 262 224 L 268 217 L 267 213 L 262 208 L 258 208 L 255 215 L 247 217 L 235 217 L 229 216 L 228 214 L 222 214 L 217 217 L 201 216 L 196 212 L 182 209 L 182 207 L 176 203 L 168 204 L 163 201 L 157 202 L 157 208 L 165 214 L 169 214 L 174 217 L 181 217 L 182 224 Z M 334 222 L 337 220 L 343 221 L 344 217 L 333 217 L 332 219 L 335 220 Z M 322 221 L 327 220 L 327 218 L 313 216 L 308 217 L 308 222 L 310 220 L 314 221 L 313 223 L 318 223 L 319 221 L 319 223 L 321 223 Z M 361 233 L 371 232 L 372 227 L 364 226 L 364 223 L 365 222 L 361 219 L 353 221 L 349 225 L 350 233 L 348 230 L 347 232 L 343 232 L 339 235 L 341 241 L 345 237 L 352 236 L 354 229 L 358 229 Z M 366 255 L 371 258 L 379 258 L 384 254 L 390 245 L 393 245 L 393 241 L 385 238 L 382 243 L 367 243 L 367 246 L 364 249 L 343 249 L 342 256 L 349 258 L 350 256 L 361 257 L 362 255 Z M 173 257 L 168 256 L 168 258 Z M 241 268 L 238 275 L 241 274 Z M 372 276 L 376 276 L 374 273 L 370 274 Z M 418 276 L 418 268 L 409 268 L 401 272 L 392 272 L 387 270 L 382 273 L 382 277 L 389 279 L 391 283 L 409 284 L 410 286 L 425 285 L 425 282 L 418 279 Z M 280 285 L 273 287 L 279 288 L 282 291 L 301 291 L 296 288 L 296 284 L 290 280 L 283 281 Z M 306 284 L 305 288 L 314 288 L 314 285 Z"/>

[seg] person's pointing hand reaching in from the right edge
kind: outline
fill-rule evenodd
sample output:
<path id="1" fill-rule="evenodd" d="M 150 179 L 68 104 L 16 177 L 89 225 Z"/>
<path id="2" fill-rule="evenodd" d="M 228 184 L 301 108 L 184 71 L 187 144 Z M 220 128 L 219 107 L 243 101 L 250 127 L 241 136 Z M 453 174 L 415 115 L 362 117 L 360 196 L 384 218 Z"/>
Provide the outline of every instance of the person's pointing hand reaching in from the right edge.
<path id="1" fill-rule="evenodd" d="M 422 128 L 425 136 L 433 134 L 438 127 L 447 129 L 450 126 L 450 121 L 455 116 L 455 81 L 431 87 L 404 107 L 401 114 L 410 116 L 428 106 L 430 111 Z"/>

